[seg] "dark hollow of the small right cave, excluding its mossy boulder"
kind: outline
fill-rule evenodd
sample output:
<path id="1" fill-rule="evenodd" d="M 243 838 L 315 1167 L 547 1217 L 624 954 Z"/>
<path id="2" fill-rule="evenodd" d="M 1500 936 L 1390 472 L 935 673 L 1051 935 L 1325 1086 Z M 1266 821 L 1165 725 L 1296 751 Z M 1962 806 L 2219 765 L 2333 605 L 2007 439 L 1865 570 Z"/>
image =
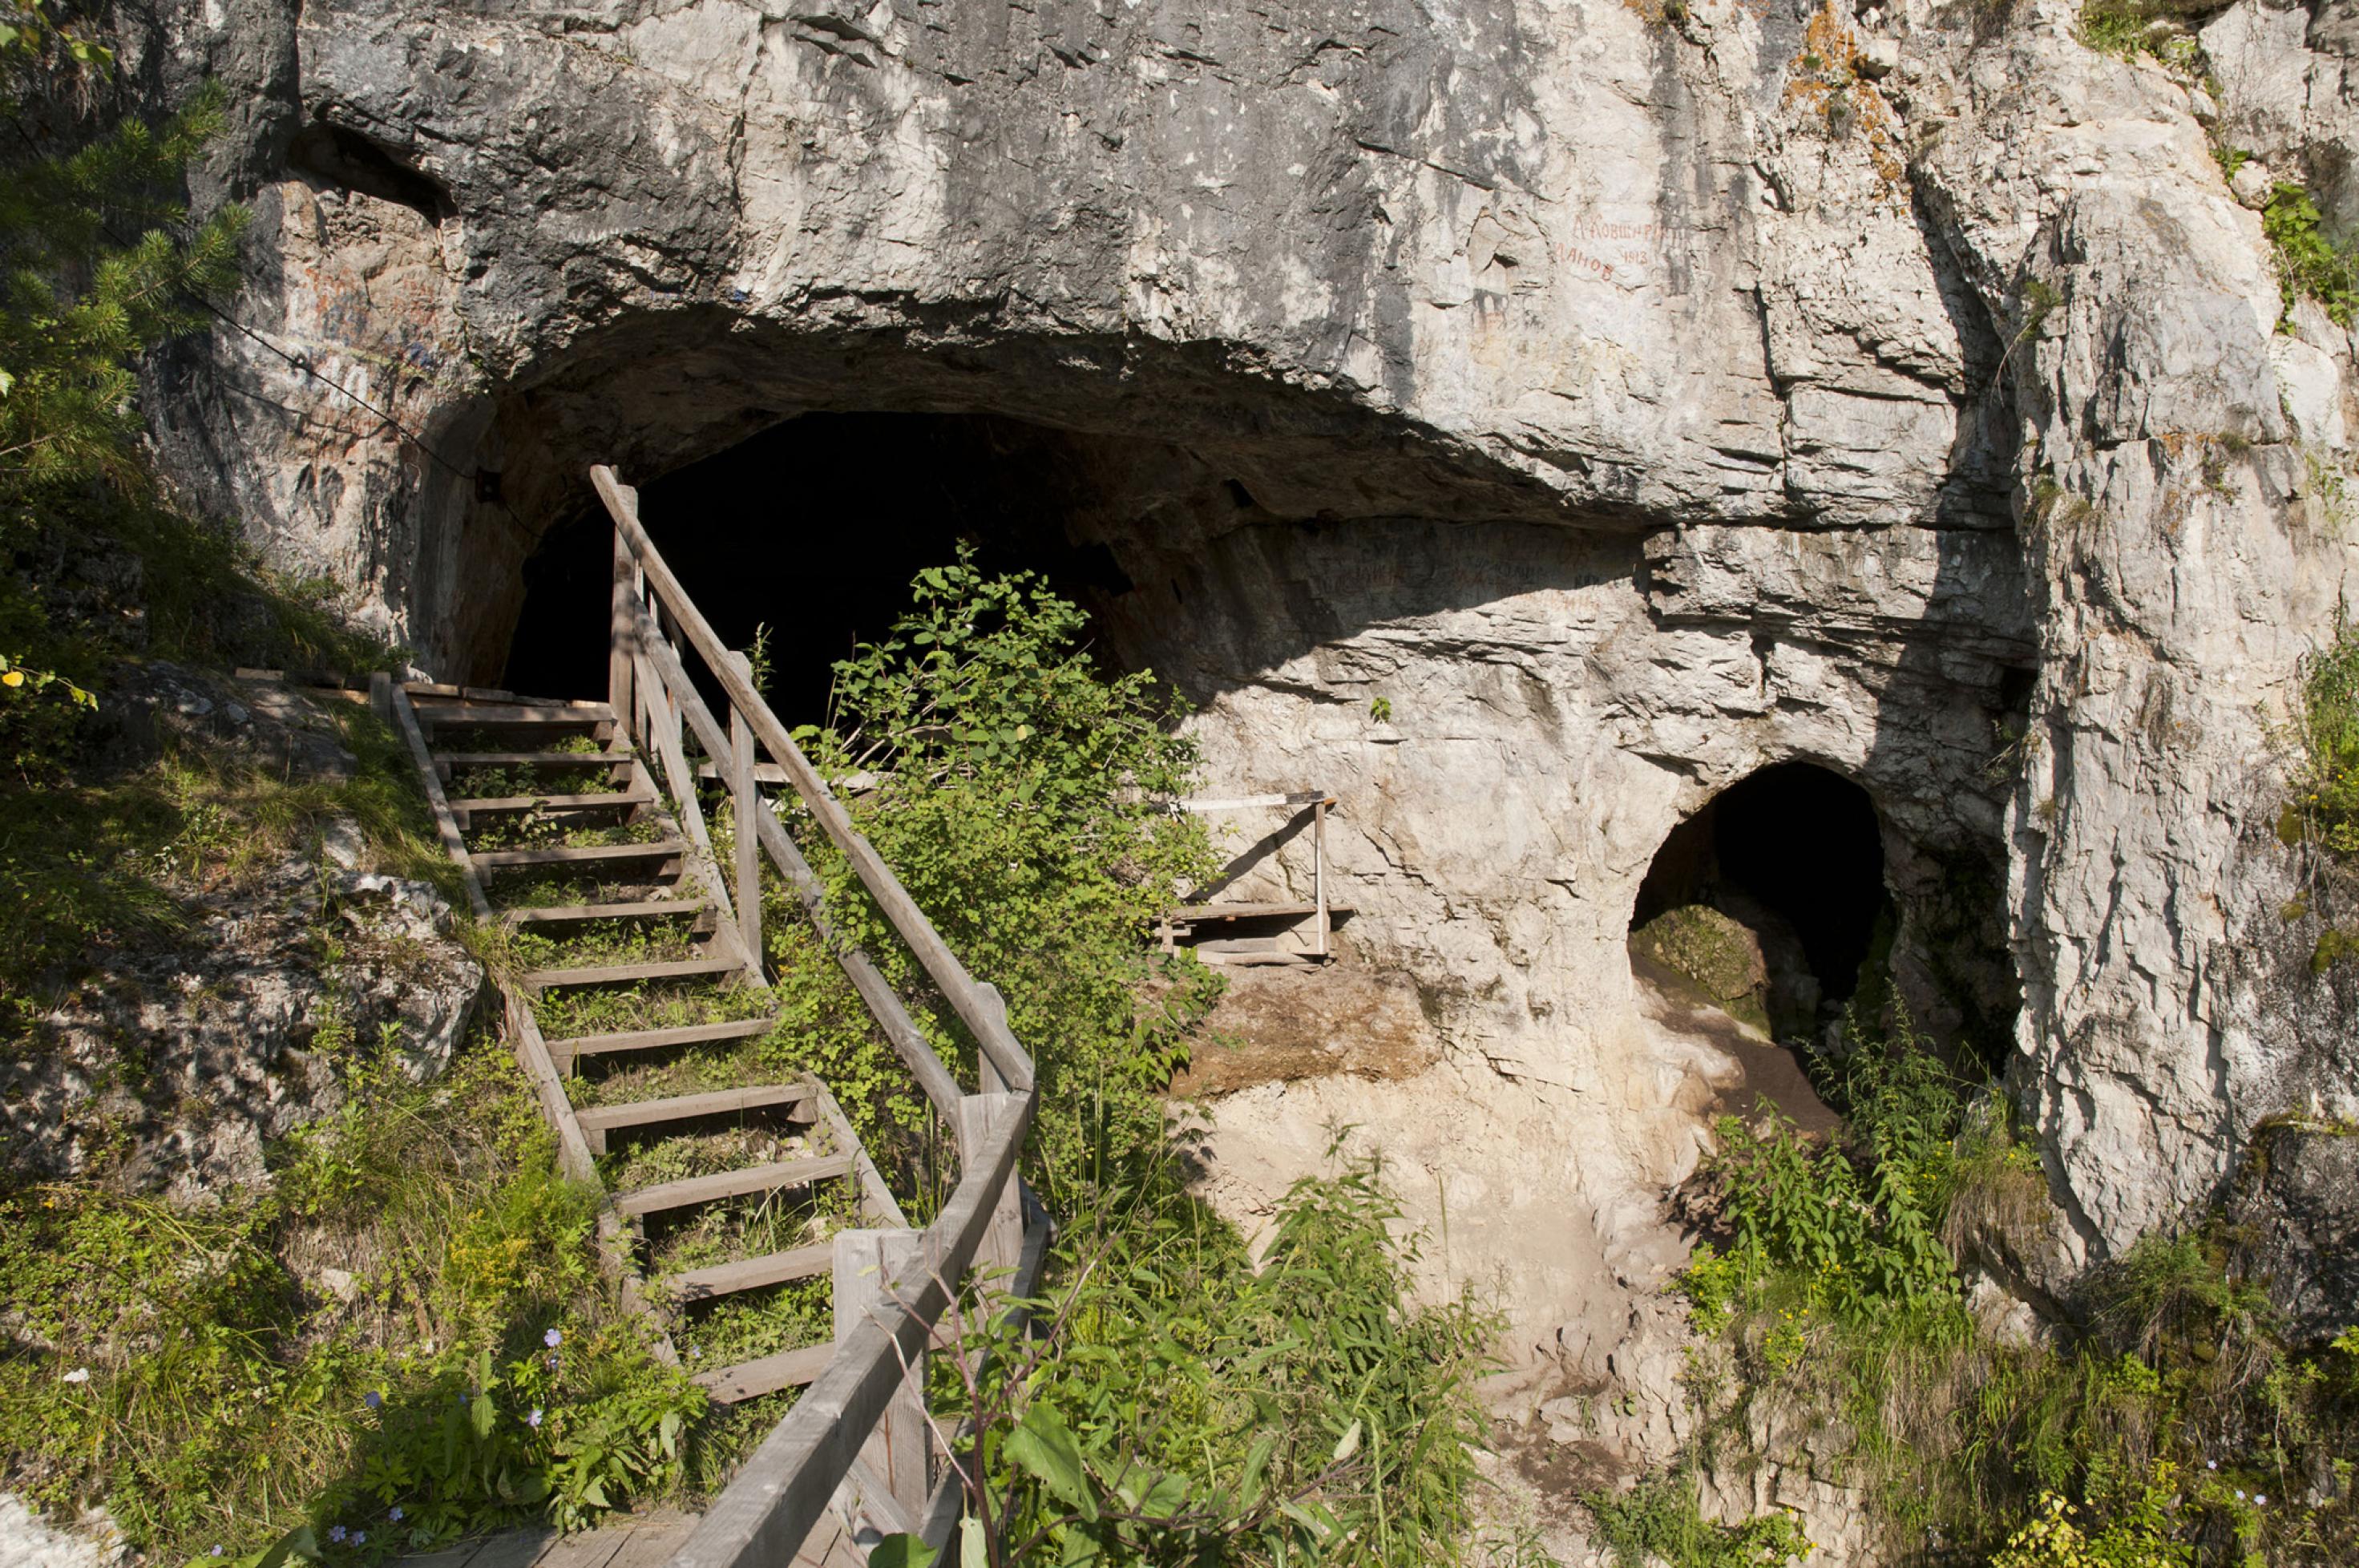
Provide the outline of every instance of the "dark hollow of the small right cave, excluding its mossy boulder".
<path id="1" fill-rule="evenodd" d="M 1809 762 L 1767 766 L 1713 797 L 1670 830 L 1640 884 L 1630 929 L 1682 905 L 1710 905 L 1748 927 L 1779 969 L 1790 1007 L 1816 1012 L 1859 988 L 1861 964 L 1890 936 L 1882 828 L 1875 802 L 1849 778 Z"/>

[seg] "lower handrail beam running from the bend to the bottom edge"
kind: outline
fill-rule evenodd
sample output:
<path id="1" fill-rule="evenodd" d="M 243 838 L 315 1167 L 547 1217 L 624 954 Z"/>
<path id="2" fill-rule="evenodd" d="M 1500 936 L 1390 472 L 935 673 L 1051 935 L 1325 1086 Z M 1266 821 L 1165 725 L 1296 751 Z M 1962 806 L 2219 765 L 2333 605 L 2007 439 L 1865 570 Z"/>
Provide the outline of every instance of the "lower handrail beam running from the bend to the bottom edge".
<path id="1" fill-rule="evenodd" d="M 861 1441 L 901 1386 L 974 1257 L 1003 1186 L 1014 1181 L 1017 1151 L 1031 1127 L 1033 1096 L 1007 1094 L 991 1115 L 984 1158 L 967 1160 L 951 1200 L 927 1226 L 918 1259 L 894 1276 L 892 1302 L 863 1318 L 837 1346 L 795 1408 L 738 1467 L 672 1568 L 750 1568 L 778 1563 L 811 1535 Z"/>

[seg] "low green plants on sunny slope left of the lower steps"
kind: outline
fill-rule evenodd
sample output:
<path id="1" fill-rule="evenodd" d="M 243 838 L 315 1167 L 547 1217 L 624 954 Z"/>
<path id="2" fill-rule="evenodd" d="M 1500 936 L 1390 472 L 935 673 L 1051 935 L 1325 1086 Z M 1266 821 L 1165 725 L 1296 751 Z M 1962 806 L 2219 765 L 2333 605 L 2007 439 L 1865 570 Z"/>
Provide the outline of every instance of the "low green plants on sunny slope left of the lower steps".
<path id="1" fill-rule="evenodd" d="M 271 1151 L 271 1191 L 0 1198 L 17 1485 L 106 1504 L 149 1561 L 309 1530 L 330 1563 L 679 1493 L 703 1391 L 606 1304 L 590 1200 L 507 1049 L 472 1042 L 436 1087 L 323 1049 L 351 1101 Z"/>

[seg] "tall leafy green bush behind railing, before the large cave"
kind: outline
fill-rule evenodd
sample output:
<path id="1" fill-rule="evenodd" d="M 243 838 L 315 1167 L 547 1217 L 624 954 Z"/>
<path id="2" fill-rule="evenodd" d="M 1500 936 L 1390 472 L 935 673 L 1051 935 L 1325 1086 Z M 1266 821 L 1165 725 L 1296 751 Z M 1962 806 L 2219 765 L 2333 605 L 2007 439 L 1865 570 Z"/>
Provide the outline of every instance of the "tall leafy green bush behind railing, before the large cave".
<path id="1" fill-rule="evenodd" d="M 1005 993 L 1054 1108 L 1038 1129 L 1043 1186 L 1057 1212 L 1083 1212 L 1090 1198 L 1064 1191 L 1087 1144 L 1069 1111 L 1090 1103 L 1123 1125 L 1121 1148 L 1156 1148 L 1158 1096 L 1217 995 L 1191 955 L 1142 941 L 1213 872 L 1203 823 L 1168 809 L 1194 783 L 1196 747 L 1149 672 L 1097 670 L 1080 608 L 1040 578 L 986 578 L 962 552 L 911 594 L 887 639 L 835 665 L 830 724 L 800 740 L 830 778 L 863 776 L 861 832 L 967 969 Z M 837 927 L 903 995 L 929 995 L 842 856 L 804 837 Z M 929 1026 L 972 1066 L 946 1007 Z"/>

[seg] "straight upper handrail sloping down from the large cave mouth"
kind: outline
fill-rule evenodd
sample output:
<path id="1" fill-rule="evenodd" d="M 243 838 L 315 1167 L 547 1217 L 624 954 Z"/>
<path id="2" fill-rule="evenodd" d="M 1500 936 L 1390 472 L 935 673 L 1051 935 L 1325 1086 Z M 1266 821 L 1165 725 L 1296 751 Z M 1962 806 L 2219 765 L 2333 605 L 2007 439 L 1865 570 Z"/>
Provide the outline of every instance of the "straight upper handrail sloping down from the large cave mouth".
<path id="1" fill-rule="evenodd" d="M 620 483 L 613 469 L 597 465 L 590 469 L 590 483 L 597 488 L 599 500 L 606 505 L 606 514 L 613 516 L 616 540 L 630 552 L 630 559 L 646 575 L 646 587 L 653 589 L 663 608 L 670 611 L 672 622 L 686 637 L 689 646 L 696 648 L 698 658 L 712 672 L 722 693 L 729 698 L 731 707 L 745 717 L 753 738 L 760 740 L 774 762 L 786 769 L 788 780 L 795 785 L 795 795 L 802 804 L 819 818 L 821 830 L 828 839 L 845 854 L 852 870 L 859 875 L 861 887 L 868 896 L 878 901 L 885 910 L 885 920 L 894 927 L 908 950 L 918 957 L 918 964 L 941 990 L 951 1012 L 958 1014 L 960 1023 L 974 1035 L 984 1052 L 988 1066 L 998 1073 L 1000 1082 L 1010 1089 L 1033 1087 L 1033 1063 L 1031 1054 L 1017 1042 L 1014 1033 L 1007 1028 L 1007 1007 L 1000 1002 L 998 993 L 988 986 L 979 986 L 967 967 L 958 962 L 941 934 L 934 931 L 934 922 L 925 917 L 918 901 L 908 896 L 901 879 L 894 877 L 885 858 L 878 856 L 875 846 L 861 837 L 859 828 L 852 825 L 852 816 L 845 811 L 835 792 L 828 790 L 828 780 L 819 776 L 802 747 L 778 722 L 778 714 L 769 710 L 762 693 L 755 691 L 753 681 L 741 674 L 731 660 L 731 648 L 712 632 L 712 625 L 703 618 L 696 604 L 689 599 L 679 578 L 663 561 L 656 542 L 646 538 L 646 528 L 639 523 L 639 493 Z M 620 564 L 620 552 L 618 552 Z M 620 604 L 620 587 L 616 601 Z"/>

